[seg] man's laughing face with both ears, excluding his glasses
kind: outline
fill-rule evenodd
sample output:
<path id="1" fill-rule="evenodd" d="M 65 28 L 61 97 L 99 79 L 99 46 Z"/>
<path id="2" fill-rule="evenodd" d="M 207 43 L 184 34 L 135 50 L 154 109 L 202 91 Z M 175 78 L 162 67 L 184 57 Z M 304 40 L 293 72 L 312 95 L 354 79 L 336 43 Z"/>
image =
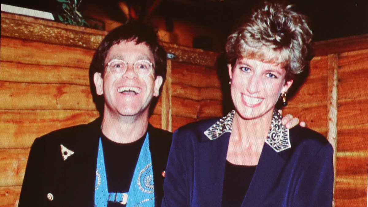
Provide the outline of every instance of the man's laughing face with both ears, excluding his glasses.
<path id="1" fill-rule="evenodd" d="M 127 63 L 125 73 L 124 70 L 109 70 L 107 64 L 112 60 L 123 60 Z M 161 76 L 154 77 L 154 68 L 146 76 L 138 75 L 133 66 L 138 60 L 154 63 L 153 54 L 145 43 L 136 45 L 135 41 L 123 41 L 109 49 L 105 59 L 105 74 L 94 75 L 96 92 L 105 97 L 105 115 L 148 115 L 151 100 L 153 96 L 159 95 L 163 79 Z M 136 64 L 136 67 L 140 66 Z"/>

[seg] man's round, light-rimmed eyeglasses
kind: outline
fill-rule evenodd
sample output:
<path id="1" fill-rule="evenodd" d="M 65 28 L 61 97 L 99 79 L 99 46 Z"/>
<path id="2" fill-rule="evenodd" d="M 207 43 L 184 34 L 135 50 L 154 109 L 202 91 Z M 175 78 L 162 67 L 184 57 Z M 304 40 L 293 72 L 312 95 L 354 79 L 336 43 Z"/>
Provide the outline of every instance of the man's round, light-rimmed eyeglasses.
<path id="1" fill-rule="evenodd" d="M 128 63 L 124 60 L 114 59 L 107 63 L 107 70 L 111 73 L 121 73 L 125 74 L 127 71 Z M 138 60 L 133 64 L 134 72 L 138 74 L 138 76 L 144 77 L 148 76 L 152 70 L 152 63 L 148 60 Z"/>

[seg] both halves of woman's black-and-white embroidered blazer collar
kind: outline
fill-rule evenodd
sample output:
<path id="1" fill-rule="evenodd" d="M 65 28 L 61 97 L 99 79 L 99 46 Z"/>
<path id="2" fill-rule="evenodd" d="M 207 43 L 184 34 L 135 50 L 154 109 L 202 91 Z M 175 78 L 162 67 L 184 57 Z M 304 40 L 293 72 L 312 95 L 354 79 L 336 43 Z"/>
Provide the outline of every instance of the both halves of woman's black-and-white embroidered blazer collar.
<path id="1" fill-rule="evenodd" d="M 204 134 L 210 140 L 219 138 L 222 134 L 230 132 L 233 128 L 235 110 L 222 117 L 215 124 L 210 126 Z M 289 149 L 291 147 L 289 129 L 281 124 L 281 115 L 275 109 L 273 111 L 270 131 L 266 138 L 266 143 L 276 152 Z"/>

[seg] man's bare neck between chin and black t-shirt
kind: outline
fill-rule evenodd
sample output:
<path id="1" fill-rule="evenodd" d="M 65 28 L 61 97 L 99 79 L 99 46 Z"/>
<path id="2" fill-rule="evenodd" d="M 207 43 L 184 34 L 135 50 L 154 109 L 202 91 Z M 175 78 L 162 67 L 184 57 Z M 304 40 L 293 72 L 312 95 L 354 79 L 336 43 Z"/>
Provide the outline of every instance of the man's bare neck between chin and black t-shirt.
<path id="1" fill-rule="evenodd" d="M 148 127 L 148 119 L 148 114 L 128 117 L 104 114 L 102 133 L 116 143 L 132 143 L 144 136 Z"/>

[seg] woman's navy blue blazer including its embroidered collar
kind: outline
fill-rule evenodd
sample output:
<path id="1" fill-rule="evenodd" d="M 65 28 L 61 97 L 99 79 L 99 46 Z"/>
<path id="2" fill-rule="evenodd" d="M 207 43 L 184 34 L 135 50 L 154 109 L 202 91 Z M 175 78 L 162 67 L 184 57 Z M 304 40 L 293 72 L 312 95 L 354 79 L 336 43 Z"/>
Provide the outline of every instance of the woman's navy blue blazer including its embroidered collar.
<path id="1" fill-rule="evenodd" d="M 221 206 L 232 119 L 229 113 L 174 132 L 162 206 Z M 286 129 L 275 114 L 272 124 L 241 206 L 332 206 L 332 146 L 311 129 Z"/>

